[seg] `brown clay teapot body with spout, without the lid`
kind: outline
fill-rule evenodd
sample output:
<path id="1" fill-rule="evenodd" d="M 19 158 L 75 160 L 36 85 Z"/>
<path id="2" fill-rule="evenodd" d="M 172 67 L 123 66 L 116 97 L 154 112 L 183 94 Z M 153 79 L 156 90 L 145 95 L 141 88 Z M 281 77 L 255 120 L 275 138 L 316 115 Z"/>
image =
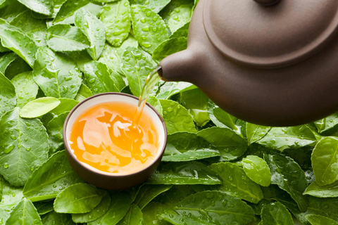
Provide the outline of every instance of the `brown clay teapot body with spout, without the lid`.
<path id="1" fill-rule="evenodd" d="M 227 113 L 255 124 L 304 124 L 338 110 L 338 37 L 293 65 L 244 66 L 209 39 L 203 19 L 205 1 L 200 0 L 194 11 L 187 50 L 161 61 L 164 80 L 191 82 Z"/>

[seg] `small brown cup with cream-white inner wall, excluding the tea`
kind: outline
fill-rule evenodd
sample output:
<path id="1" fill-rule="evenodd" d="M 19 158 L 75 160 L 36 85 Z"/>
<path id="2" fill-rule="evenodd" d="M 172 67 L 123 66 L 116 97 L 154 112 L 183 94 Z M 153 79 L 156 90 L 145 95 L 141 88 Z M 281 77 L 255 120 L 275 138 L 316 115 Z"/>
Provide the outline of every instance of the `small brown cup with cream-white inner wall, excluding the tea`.
<path id="1" fill-rule="evenodd" d="M 160 143 L 158 147 L 158 152 L 156 158 L 151 164 L 138 172 L 132 174 L 119 174 L 119 173 L 109 173 L 102 172 L 99 169 L 96 169 L 90 165 L 87 165 L 84 162 L 80 162 L 75 157 L 73 150 L 70 148 L 69 138 L 70 130 L 74 124 L 77 117 L 91 108 L 93 105 L 106 102 L 124 102 L 135 105 L 135 110 L 139 98 L 132 96 L 130 94 L 123 93 L 104 93 L 97 94 L 95 96 L 89 97 L 84 101 L 80 102 L 70 111 L 68 117 L 63 124 L 63 142 L 65 144 L 65 153 L 67 154 L 68 161 L 73 167 L 74 171 L 79 174 L 79 176 L 87 181 L 89 184 L 92 184 L 98 188 L 111 189 L 111 190 L 121 190 L 136 186 L 141 184 L 143 181 L 149 178 L 153 174 L 161 162 L 162 155 L 165 150 L 165 145 L 167 143 L 167 129 L 161 115 L 152 107 L 149 103 L 146 103 L 144 106 L 143 113 L 146 113 L 151 117 L 154 122 L 155 128 L 158 131 L 158 141 Z"/>

